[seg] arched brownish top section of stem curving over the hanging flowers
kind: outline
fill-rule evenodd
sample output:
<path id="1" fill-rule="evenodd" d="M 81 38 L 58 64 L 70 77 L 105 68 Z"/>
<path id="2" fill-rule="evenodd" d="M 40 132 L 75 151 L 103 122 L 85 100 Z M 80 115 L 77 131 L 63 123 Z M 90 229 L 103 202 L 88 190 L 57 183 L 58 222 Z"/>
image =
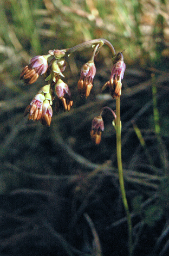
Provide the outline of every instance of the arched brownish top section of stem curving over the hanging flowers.
<path id="1" fill-rule="evenodd" d="M 67 55 L 69 55 L 69 54 L 79 50 L 80 48 L 85 48 L 88 45 L 94 45 L 94 44 L 98 44 L 98 43 L 101 43 L 100 47 L 103 44 L 107 45 L 110 48 L 113 57 L 116 55 L 116 52 L 115 52 L 114 47 L 111 44 L 111 42 L 109 42 L 108 40 L 106 40 L 104 38 L 93 39 L 93 40 L 89 40 L 89 41 L 86 41 L 86 42 L 82 42 L 82 44 L 79 44 L 79 45 L 76 45 L 76 46 L 74 46 L 72 48 L 66 49 L 66 53 L 67 53 Z"/>

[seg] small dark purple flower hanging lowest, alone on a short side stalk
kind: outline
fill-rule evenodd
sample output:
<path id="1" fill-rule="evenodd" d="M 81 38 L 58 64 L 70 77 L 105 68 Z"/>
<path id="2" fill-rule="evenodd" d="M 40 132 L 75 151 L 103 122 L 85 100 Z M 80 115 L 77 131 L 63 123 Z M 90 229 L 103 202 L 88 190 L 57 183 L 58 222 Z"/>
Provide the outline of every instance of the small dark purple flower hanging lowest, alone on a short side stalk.
<path id="1" fill-rule="evenodd" d="M 90 136 L 92 138 L 92 141 L 98 145 L 101 141 L 101 131 L 104 130 L 104 123 L 101 115 L 98 115 L 98 117 L 95 117 L 92 120 L 92 130 L 90 131 Z"/>

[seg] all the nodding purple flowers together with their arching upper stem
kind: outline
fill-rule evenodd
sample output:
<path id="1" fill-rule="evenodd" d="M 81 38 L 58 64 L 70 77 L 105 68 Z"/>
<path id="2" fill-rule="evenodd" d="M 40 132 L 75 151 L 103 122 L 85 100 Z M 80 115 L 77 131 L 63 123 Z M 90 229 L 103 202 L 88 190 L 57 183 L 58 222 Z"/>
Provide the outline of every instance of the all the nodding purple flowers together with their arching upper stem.
<path id="1" fill-rule="evenodd" d="M 44 80 L 47 82 L 39 92 L 34 96 L 30 105 L 25 109 L 24 116 L 29 115 L 29 120 L 40 120 L 42 125 L 50 126 L 51 117 L 53 115 L 53 100 L 56 96 L 56 112 L 60 110 L 70 110 L 73 105 L 72 95 L 69 87 L 63 82 L 64 75 L 62 74 L 66 68 L 65 57 L 80 48 L 88 45 L 94 47 L 92 58 L 82 66 L 80 79 L 77 83 L 77 90 L 81 96 L 86 98 L 89 96 L 93 87 L 93 78 L 96 74 L 94 64 L 94 57 L 99 52 L 99 48 L 106 44 L 112 51 L 113 55 L 113 69 L 110 80 L 102 87 L 105 90 L 109 87 L 112 97 L 119 97 L 121 95 L 121 79 L 125 72 L 125 63 L 122 53 L 116 55 L 114 47 L 106 39 L 94 39 L 83 42 L 72 48 L 64 50 L 50 50 L 47 55 L 36 56 L 30 60 L 30 64 L 25 66 L 21 72 L 20 79 L 25 84 L 32 84 L 36 82 L 40 75 L 44 75 Z M 96 123 L 99 123 L 96 125 Z M 101 116 L 96 117 L 92 123 L 91 137 L 96 144 L 100 143 L 101 131 L 103 131 L 103 121 Z"/>

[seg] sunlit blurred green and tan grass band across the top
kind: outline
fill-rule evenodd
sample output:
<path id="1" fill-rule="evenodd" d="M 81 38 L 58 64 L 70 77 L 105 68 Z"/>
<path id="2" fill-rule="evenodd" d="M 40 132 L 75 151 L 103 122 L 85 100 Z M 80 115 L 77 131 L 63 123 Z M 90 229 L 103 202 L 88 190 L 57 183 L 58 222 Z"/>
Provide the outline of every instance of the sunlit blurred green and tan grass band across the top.
<path id="1" fill-rule="evenodd" d="M 106 38 L 127 61 L 161 64 L 169 54 L 168 1 L 1 1 L 1 54 L 42 54 Z M 23 55 L 22 55 L 23 54 Z M 2 58 L 3 59 L 3 58 Z"/>

